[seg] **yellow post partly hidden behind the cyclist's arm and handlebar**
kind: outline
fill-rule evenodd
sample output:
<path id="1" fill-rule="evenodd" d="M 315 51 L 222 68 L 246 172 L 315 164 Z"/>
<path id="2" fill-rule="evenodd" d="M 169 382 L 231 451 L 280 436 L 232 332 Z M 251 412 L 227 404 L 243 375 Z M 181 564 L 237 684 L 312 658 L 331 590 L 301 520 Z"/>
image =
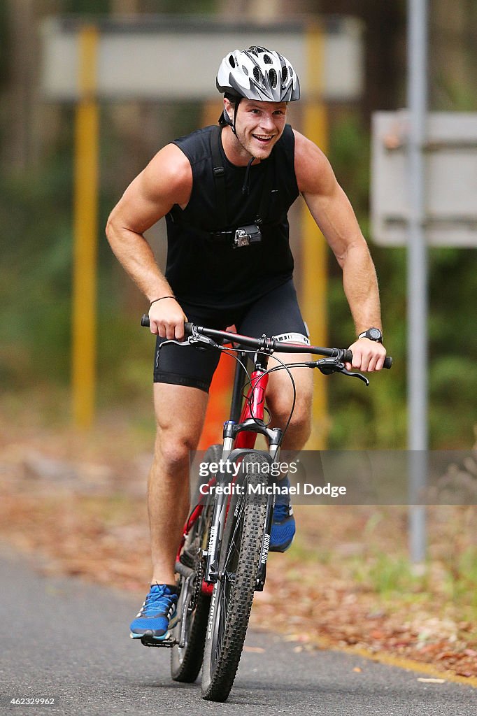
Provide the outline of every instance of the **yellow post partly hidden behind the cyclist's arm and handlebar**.
<path id="1" fill-rule="evenodd" d="M 327 153 L 327 110 L 323 102 L 324 33 L 313 26 L 307 33 L 307 97 L 304 134 Z M 327 345 L 327 246 L 306 205 L 302 209 L 302 305 L 315 345 Z M 327 444 L 327 391 L 321 374 L 314 371 L 312 435 L 309 450 L 324 450 Z"/>

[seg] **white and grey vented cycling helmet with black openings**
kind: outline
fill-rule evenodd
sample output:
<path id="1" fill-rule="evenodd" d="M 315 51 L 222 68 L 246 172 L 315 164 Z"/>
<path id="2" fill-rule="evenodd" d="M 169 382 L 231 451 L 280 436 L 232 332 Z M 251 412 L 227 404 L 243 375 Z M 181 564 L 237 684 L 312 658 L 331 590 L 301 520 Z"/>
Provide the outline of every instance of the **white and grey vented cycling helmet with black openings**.
<path id="1" fill-rule="evenodd" d="M 233 50 L 218 68 L 217 89 L 231 97 L 261 102 L 293 102 L 300 98 L 300 83 L 290 62 L 264 47 Z"/>

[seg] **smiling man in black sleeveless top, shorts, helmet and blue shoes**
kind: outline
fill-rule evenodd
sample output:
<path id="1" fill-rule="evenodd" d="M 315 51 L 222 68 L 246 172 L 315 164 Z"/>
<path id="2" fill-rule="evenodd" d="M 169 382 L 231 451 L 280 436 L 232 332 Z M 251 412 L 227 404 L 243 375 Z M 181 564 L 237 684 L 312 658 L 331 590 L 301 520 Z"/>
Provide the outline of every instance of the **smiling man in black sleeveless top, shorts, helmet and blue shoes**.
<path id="1" fill-rule="evenodd" d="M 150 301 L 150 330 L 157 334 L 157 433 L 148 482 L 153 575 L 130 627 L 136 639 L 166 639 L 176 618 L 174 564 L 189 509 L 189 453 L 201 436 L 218 364 L 216 351 L 159 346 L 165 339 L 183 339 L 184 321 L 193 321 L 302 342 L 303 354 L 287 356 L 287 362 L 309 359 L 286 217 L 300 193 L 343 271 L 357 332 L 350 346 L 352 367 L 380 370 L 386 355 L 375 267 L 350 202 L 321 150 L 286 124 L 287 104 L 300 94 L 290 62 L 263 47 L 235 50 L 223 58 L 216 83 L 224 95 L 218 127 L 163 147 L 127 188 L 107 223 L 112 251 Z M 164 216 L 165 274 L 143 237 Z M 284 435 L 285 450 L 301 450 L 311 427 L 312 372 L 297 368 L 293 375 L 297 407 Z M 282 429 L 291 390 L 284 372 L 271 373 L 267 405 L 273 424 Z M 281 483 L 286 485 L 287 478 Z M 289 500 L 280 498 L 270 550 L 288 548 L 294 531 Z"/>

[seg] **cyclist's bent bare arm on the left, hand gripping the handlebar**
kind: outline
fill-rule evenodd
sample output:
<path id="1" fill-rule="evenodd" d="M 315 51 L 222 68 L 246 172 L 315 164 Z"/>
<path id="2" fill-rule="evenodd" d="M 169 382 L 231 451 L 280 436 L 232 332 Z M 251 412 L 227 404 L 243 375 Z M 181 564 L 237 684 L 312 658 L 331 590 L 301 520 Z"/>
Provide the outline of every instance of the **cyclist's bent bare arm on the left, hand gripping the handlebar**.
<path id="1" fill-rule="evenodd" d="M 178 147 L 167 145 L 127 187 L 107 221 L 112 251 L 149 301 L 172 296 L 173 291 L 143 233 L 174 204 L 186 205 L 191 189 L 190 163 Z M 180 339 L 185 318 L 173 299 L 156 301 L 150 308 L 151 332 Z"/>

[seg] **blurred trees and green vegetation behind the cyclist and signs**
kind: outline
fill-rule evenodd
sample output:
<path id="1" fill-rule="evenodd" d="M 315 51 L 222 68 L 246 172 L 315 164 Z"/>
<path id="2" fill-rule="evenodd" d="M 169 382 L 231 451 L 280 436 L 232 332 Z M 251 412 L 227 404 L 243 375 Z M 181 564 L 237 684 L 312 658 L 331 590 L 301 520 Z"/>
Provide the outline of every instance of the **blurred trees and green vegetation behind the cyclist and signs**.
<path id="1" fill-rule="evenodd" d="M 27 405 L 38 420 L 69 420 L 74 112 L 38 92 L 39 21 L 52 14 L 195 13 L 227 19 L 348 14 L 365 26 L 365 93 L 329 105 L 329 158 L 350 196 L 380 279 L 386 345 L 395 357 L 372 390 L 329 382 L 330 448 L 404 448 L 406 256 L 372 243 L 370 117 L 405 105 L 405 0 L 6 0 L 0 4 L 0 380 L 12 420 Z M 477 111 L 477 4 L 430 0 L 430 110 Z M 292 58 L 291 58 L 292 59 Z M 213 78 L 211 78 L 213 82 Z M 201 107 L 165 102 L 101 107 L 100 226 L 122 191 L 166 142 L 201 125 Z M 150 232 L 164 257 L 164 231 Z M 120 411 L 153 429 L 150 334 L 138 327 L 145 299 L 100 241 L 99 415 Z M 469 448 L 477 423 L 475 249 L 432 248 L 430 442 Z M 472 308 L 473 306 L 473 308 Z M 329 257 L 329 343 L 354 329 L 340 271 Z"/>

